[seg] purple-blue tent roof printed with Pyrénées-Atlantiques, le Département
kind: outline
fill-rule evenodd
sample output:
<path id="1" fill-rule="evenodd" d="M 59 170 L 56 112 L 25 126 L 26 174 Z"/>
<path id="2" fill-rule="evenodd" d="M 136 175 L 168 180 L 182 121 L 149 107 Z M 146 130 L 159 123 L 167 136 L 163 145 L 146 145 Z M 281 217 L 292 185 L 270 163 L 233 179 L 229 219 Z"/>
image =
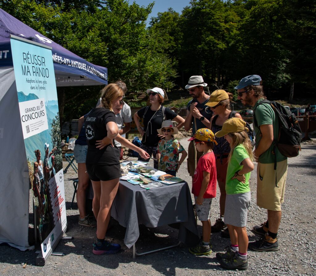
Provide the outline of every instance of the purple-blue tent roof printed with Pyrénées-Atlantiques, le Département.
<path id="1" fill-rule="evenodd" d="M 57 86 L 107 84 L 107 68 L 94 65 L 0 9 L 0 67 L 13 66 L 10 34 L 52 47 Z"/>

